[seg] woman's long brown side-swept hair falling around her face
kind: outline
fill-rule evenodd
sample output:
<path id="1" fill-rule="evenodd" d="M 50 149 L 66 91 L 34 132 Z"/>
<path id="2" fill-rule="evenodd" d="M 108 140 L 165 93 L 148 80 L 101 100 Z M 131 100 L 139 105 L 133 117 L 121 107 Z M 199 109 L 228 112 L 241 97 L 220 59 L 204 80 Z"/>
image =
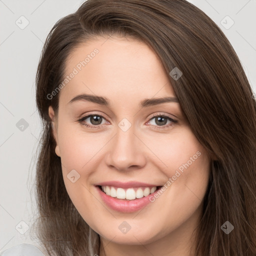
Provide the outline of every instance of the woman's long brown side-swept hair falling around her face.
<path id="1" fill-rule="evenodd" d="M 94 255 L 99 235 L 72 204 L 55 154 L 47 97 L 61 83 L 65 61 L 81 42 L 96 36 L 129 36 L 151 47 L 169 75 L 188 124 L 212 156 L 195 255 L 256 254 L 256 102 L 231 44 L 220 28 L 186 0 L 87 0 L 61 18 L 42 49 L 36 103 L 43 124 L 36 166 L 37 235 L 48 253 Z M 67 85 L 68 86 L 68 85 Z M 226 234 L 221 225 L 234 229 Z M 160 254 L 160 252 L 159 252 Z"/>

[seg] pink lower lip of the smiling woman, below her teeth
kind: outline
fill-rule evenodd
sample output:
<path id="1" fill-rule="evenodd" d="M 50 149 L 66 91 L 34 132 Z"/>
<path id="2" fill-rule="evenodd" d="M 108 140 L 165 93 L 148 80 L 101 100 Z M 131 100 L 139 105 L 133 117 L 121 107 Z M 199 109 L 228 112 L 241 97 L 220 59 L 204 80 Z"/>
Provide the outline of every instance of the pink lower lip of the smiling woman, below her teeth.
<path id="1" fill-rule="evenodd" d="M 112 208 L 113 210 L 120 211 L 120 212 L 134 212 L 137 210 L 142 209 L 148 203 L 150 203 L 149 197 L 154 196 L 154 193 L 160 189 L 156 189 L 153 193 L 143 196 L 141 198 L 136 198 L 133 200 L 128 199 L 118 199 L 116 197 L 112 197 L 110 195 L 105 194 L 99 186 L 95 186 L 98 190 L 102 200 L 105 202 L 107 206 Z"/>

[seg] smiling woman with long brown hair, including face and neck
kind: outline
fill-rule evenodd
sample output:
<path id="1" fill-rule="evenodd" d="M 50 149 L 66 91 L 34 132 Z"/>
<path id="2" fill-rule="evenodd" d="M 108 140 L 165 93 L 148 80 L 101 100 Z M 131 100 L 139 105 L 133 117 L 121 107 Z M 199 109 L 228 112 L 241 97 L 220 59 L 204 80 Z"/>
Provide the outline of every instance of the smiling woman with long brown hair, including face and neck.
<path id="1" fill-rule="evenodd" d="M 87 0 L 50 31 L 36 102 L 44 254 L 255 255 L 256 104 L 194 5 Z"/>

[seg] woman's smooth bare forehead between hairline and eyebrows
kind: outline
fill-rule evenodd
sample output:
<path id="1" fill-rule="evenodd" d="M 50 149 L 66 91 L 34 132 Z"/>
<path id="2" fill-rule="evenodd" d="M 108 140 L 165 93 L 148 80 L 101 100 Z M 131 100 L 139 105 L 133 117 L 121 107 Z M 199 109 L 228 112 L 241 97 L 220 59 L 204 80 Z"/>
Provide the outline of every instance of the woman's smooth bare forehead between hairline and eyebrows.
<path id="1" fill-rule="evenodd" d="M 142 98 L 175 96 L 158 56 L 144 42 L 126 37 L 97 37 L 79 44 L 69 54 L 61 89 L 68 102 L 81 93 L 96 94 L 118 103 Z"/>

